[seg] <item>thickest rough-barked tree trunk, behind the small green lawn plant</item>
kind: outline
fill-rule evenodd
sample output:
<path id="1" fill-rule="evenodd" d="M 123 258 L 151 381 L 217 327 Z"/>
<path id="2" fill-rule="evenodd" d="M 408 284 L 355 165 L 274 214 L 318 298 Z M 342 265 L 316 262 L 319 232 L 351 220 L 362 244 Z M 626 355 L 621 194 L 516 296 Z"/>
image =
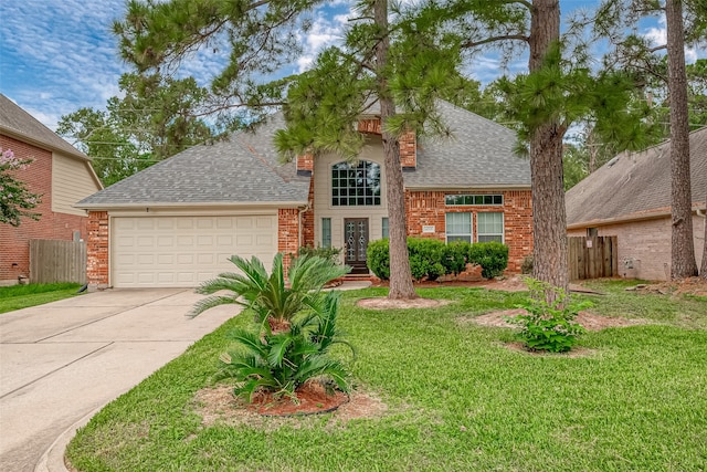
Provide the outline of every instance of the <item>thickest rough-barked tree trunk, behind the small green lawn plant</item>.
<path id="1" fill-rule="evenodd" d="M 535 0 L 530 14 L 530 73 L 538 71 L 545 55 L 560 39 L 559 0 Z M 566 128 L 546 123 L 530 135 L 532 186 L 534 277 L 569 290 L 567 264 L 567 217 L 562 186 L 562 138 Z M 546 294 L 548 301 L 555 295 Z"/>

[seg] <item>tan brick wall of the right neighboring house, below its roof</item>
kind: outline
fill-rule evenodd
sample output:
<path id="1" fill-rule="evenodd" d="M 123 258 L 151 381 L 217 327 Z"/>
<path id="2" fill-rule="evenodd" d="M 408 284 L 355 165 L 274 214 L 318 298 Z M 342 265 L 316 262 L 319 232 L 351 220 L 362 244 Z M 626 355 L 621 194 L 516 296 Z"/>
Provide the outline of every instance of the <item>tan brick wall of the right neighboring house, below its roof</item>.
<path id="1" fill-rule="evenodd" d="M 693 217 L 695 256 L 701 261 L 705 218 Z M 600 237 L 616 237 L 619 275 L 625 279 L 665 281 L 671 276 L 671 218 L 627 221 L 597 227 Z M 568 231 L 570 237 L 585 237 L 587 227 Z"/>

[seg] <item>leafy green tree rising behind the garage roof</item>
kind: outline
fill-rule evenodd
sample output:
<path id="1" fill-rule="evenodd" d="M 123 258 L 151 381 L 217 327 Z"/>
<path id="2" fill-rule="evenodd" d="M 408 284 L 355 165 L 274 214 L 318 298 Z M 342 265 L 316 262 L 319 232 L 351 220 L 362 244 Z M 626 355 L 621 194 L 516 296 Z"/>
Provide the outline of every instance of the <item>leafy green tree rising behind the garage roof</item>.
<path id="1" fill-rule="evenodd" d="M 125 96 L 109 98 L 105 111 L 81 108 L 62 116 L 57 127 L 93 157 L 104 185 L 213 138 L 199 116 L 205 90 L 193 78 L 124 74 L 119 86 Z"/>

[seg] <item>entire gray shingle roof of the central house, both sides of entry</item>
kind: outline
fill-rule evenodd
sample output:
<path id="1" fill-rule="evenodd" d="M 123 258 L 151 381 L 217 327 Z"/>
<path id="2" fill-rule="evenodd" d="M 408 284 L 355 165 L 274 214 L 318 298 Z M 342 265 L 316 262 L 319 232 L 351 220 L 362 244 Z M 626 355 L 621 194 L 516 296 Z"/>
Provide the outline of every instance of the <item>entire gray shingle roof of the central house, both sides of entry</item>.
<path id="1" fill-rule="evenodd" d="M 453 138 L 421 139 L 418 168 L 404 172 L 408 188 L 530 188 L 528 160 L 516 157 L 516 134 L 471 112 L 441 103 Z M 255 132 L 187 149 L 76 206 L 298 202 L 308 198 L 309 178 L 295 162 L 282 165 L 273 145 L 284 128 L 282 114 Z"/>

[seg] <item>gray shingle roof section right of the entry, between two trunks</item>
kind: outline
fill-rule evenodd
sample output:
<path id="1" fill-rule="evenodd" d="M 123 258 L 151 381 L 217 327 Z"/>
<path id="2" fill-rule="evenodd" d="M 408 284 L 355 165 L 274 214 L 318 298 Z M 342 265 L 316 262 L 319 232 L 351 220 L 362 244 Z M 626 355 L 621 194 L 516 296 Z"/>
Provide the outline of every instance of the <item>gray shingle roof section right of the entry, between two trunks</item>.
<path id="1" fill-rule="evenodd" d="M 437 106 L 453 136 L 420 139 L 405 187 L 530 188 L 530 161 L 514 154 L 515 132 L 447 102 Z"/>

